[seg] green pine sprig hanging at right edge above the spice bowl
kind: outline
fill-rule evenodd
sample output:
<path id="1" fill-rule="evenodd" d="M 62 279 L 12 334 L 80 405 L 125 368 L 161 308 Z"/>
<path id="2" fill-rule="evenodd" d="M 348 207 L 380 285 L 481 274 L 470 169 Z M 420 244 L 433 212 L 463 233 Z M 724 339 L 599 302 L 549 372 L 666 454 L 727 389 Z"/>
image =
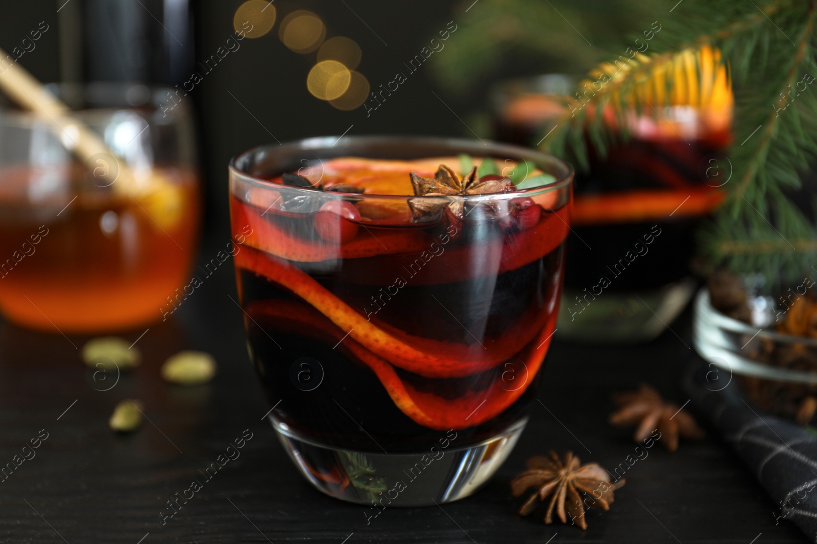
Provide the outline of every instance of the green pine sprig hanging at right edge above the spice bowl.
<path id="1" fill-rule="evenodd" d="M 735 2 L 725 15 L 708 5 L 696 15 L 696 3 L 678 22 L 708 19 L 695 42 L 730 59 L 736 100 L 727 199 L 699 247 L 710 266 L 761 273 L 774 288 L 810 276 L 817 256 L 817 229 L 804 213 L 817 207 L 797 201 L 801 173 L 817 158 L 817 89 L 809 83 L 817 78 L 817 2 L 755 4 Z"/>

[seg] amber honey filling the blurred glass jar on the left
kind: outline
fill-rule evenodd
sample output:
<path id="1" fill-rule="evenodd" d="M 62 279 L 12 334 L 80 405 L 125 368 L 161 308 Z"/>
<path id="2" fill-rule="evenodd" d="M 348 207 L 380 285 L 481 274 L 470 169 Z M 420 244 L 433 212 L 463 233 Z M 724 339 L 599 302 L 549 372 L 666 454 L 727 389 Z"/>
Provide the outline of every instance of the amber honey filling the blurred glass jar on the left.
<path id="1" fill-rule="evenodd" d="M 0 170 L 3 315 L 64 334 L 161 320 L 189 274 L 199 194 L 189 171 L 153 175 L 166 183 L 133 196 L 89 187 L 76 167 Z"/>

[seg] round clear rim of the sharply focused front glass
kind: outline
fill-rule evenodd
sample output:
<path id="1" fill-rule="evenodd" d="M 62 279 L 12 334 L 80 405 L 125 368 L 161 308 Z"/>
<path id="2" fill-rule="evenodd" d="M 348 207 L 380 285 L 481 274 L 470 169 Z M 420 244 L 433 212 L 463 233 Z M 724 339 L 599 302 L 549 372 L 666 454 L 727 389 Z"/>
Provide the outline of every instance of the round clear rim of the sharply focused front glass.
<path id="1" fill-rule="evenodd" d="M 463 200 L 468 201 L 484 201 L 484 200 L 492 200 L 492 199 L 509 199 L 509 198 L 516 198 L 516 197 L 527 197 L 530 195 L 539 195 L 545 192 L 552 192 L 557 191 L 562 188 L 567 188 L 573 183 L 574 179 L 574 168 L 570 166 L 568 162 L 563 161 L 559 157 L 551 155 L 549 153 L 542 153 L 532 148 L 525 148 L 518 145 L 512 144 L 501 144 L 498 142 L 494 142 L 492 140 L 476 140 L 476 139 L 464 139 L 464 138 L 447 138 L 447 137 L 440 137 L 440 136 L 413 136 L 413 135 L 355 135 L 355 136 L 315 136 L 305 139 L 297 139 L 293 140 L 292 142 L 287 142 L 285 144 L 263 144 L 256 146 L 254 148 L 250 148 L 242 153 L 239 153 L 230 159 L 230 163 L 228 166 L 228 170 L 230 171 L 230 175 L 237 176 L 238 178 L 242 179 L 245 183 L 253 184 L 260 188 L 267 188 L 271 190 L 279 191 L 280 188 L 284 187 L 287 191 L 292 191 L 293 194 L 301 193 L 305 196 L 315 195 L 315 189 L 312 188 L 299 188 L 293 187 L 291 185 L 282 185 L 282 184 L 275 184 L 267 179 L 262 179 L 256 177 L 254 175 L 249 174 L 247 171 L 242 170 L 239 163 L 242 161 L 249 161 L 251 157 L 257 156 L 259 154 L 267 153 L 271 150 L 278 151 L 283 156 L 296 156 L 298 153 L 303 153 L 307 151 L 317 151 L 321 149 L 343 149 L 343 148 L 352 148 L 355 145 L 366 145 L 366 144 L 380 144 L 380 145 L 391 145 L 391 146 L 398 146 L 400 144 L 425 144 L 434 147 L 440 148 L 440 154 L 437 157 L 444 157 L 445 151 L 450 151 L 453 155 L 457 155 L 459 153 L 465 153 L 462 151 L 463 149 L 471 149 L 474 151 L 473 157 L 518 157 L 519 159 L 530 160 L 537 166 L 540 170 L 542 169 L 542 165 L 551 166 L 551 171 L 546 171 L 546 173 L 554 175 L 556 177 L 556 181 L 551 184 L 543 185 L 542 187 L 534 187 L 529 189 L 521 189 L 521 190 L 514 190 L 511 192 L 493 192 L 488 194 L 478 194 L 478 195 L 458 195 L 458 197 L 462 198 Z M 457 151 L 458 150 L 458 151 Z M 494 153 L 495 152 L 495 153 Z M 350 156 L 355 156 L 355 153 L 349 153 Z M 338 155 L 338 157 L 342 157 L 343 155 Z M 361 155 L 359 155 L 361 156 Z M 362 155 L 365 157 L 364 155 Z M 431 157 L 434 157 L 431 155 Z M 422 157 L 417 157 L 422 158 Z M 410 160 L 410 159 L 406 159 Z M 556 171 L 554 171 L 556 170 Z M 559 171 L 560 170 L 560 171 Z M 558 175 L 556 175 L 558 174 Z M 326 194 L 322 192 L 322 194 Z M 355 197 L 357 200 L 366 200 L 366 199 L 391 199 L 391 200 L 400 200 L 404 201 L 408 198 L 421 198 L 417 197 L 417 195 L 383 195 L 383 194 L 376 194 L 376 193 L 359 193 L 359 192 L 341 192 L 341 191 L 332 191 L 329 194 L 342 196 L 342 197 Z M 440 196 L 440 197 L 426 197 L 423 196 L 422 198 L 434 198 L 440 200 L 448 200 L 450 196 Z"/>

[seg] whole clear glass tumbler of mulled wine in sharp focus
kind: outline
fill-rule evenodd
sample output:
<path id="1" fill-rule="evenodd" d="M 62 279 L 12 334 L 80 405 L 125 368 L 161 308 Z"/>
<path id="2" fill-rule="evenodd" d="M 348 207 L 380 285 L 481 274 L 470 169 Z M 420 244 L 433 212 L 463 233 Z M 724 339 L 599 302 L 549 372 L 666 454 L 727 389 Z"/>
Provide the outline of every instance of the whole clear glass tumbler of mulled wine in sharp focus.
<path id="1" fill-rule="evenodd" d="M 413 219 L 415 197 L 368 192 L 409 169 L 368 172 L 364 193 L 281 184 L 298 172 L 318 183 L 335 157 L 426 159 L 433 171 L 460 153 L 529 161 L 555 181 L 419 200 L 464 206 L 462 223 Z M 466 497 L 498 469 L 553 333 L 572 179 L 555 157 L 458 139 L 314 138 L 234 158 L 250 357 L 270 422 L 315 487 L 374 516 Z"/>

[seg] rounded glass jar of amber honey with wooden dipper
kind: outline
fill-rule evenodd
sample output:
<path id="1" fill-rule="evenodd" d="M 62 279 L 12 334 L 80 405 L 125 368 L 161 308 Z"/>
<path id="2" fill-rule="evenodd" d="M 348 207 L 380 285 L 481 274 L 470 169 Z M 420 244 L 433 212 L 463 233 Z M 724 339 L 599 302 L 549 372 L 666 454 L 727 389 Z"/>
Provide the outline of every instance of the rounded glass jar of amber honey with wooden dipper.
<path id="1" fill-rule="evenodd" d="M 63 333 L 167 318 L 183 299 L 199 229 L 188 104 L 141 85 L 51 91 L 114 156 L 82 164 L 69 150 L 71 127 L 0 109 L 0 310 Z M 125 165 L 138 192 L 117 181 Z"/>

